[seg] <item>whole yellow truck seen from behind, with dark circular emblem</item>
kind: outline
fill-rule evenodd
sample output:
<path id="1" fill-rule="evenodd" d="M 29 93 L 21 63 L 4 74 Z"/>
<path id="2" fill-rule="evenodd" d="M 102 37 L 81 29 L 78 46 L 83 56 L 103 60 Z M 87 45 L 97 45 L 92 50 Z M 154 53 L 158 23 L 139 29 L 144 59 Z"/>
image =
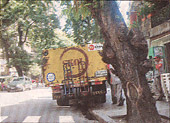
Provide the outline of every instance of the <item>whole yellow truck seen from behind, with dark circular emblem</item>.
<path id="1" fill-rule="evenodd" d="M 43 51 L 43 79 L 60 106 L 69 102 L 106 102 L 106 64 L 102 44 Z"/>

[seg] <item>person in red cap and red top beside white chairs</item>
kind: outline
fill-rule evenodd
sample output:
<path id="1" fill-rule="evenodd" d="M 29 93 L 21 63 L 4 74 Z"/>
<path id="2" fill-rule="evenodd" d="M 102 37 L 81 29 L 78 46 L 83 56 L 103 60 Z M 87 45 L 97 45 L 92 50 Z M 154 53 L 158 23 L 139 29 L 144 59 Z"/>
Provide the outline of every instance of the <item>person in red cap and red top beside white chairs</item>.
<path id="1" fill-rule="evenodd" d="M 160 55 L 154 57 L 155 60 L 155 70 L 154 70 L 154 82 L 153 82 L 153 90 L 154 90 L 154 98 L 156 100 L 162 100 L 163 91 L 161 87 L 161 74 L 164 73 L 164 64 Z"/>

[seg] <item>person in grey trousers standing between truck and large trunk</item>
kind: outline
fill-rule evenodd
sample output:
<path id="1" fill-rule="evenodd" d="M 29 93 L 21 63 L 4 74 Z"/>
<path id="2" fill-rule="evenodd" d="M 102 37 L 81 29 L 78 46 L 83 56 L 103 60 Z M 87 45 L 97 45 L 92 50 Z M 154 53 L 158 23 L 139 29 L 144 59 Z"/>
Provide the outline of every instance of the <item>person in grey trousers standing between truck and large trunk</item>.
<path id="1" fill-rule="evenodd" d="M 124 98 L 122 97 L 122 83 L 120 79 L 115 75 L 114 68 L 111 64 L 107 65 L 108 69 L 108 83 L 111 87 L 112 103 L 122 106 Z"/>

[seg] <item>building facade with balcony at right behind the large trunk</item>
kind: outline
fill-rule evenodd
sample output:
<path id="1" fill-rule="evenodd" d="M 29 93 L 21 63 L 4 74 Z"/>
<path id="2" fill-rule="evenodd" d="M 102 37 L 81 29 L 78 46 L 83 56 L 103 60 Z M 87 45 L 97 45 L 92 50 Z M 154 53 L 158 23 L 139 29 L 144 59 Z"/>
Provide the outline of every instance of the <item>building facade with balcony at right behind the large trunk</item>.
<path id="1" fill-rule="evenodd" d="M 130 24 L 135 22 L 140 25 L 148 42 L 148 58 L 162 56 L 165 70 L 170 73 L 170 2 L 164 1 L 160 3 L 159 9 L 139 17 L 139 9 L 143 6 L 143 1 L 132 3 L 129 12 Z"/>

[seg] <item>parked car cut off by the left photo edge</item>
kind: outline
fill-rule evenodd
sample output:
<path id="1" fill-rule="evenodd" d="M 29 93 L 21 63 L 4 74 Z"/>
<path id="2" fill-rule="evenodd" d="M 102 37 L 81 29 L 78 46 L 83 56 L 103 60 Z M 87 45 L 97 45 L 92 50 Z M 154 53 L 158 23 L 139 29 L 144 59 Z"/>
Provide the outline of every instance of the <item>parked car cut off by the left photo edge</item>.
<path id="1" fill-rule="evenodd" d="M 7 89 L 7 85 L 12 80 L 11 76 L 0 76 L 0 90 L 5 91 Z"/>

